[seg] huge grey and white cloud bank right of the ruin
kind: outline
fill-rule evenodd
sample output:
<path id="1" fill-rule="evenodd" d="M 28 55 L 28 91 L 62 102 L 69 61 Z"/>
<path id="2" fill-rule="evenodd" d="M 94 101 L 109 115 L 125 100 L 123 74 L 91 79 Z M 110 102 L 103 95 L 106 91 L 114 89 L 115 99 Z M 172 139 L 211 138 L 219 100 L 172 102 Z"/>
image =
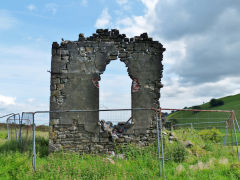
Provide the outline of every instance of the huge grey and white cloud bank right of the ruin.
<path id="1" fill-rule="evenodd" d="M 148 32 L 166 48 L 161 106 L 183 108 L 240 93 L 239 2 L 141 2 L 144 14 L 118 13 L 111 23 L 129 37 Z"/>

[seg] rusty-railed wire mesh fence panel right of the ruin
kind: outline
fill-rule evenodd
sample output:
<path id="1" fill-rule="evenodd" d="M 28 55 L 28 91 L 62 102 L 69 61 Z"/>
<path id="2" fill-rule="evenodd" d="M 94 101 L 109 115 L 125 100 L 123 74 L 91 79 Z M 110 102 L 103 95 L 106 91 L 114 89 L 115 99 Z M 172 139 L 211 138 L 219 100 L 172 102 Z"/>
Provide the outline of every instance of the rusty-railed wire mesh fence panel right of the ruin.
<path id="1" fill-rule="evenodd" d="M 220 151 L 231 148 L 233 158 L 239 160 L 240 131 L 234 111 L 162 109 L 161 112 L 169 132 L 164 136 L 166 161 L 182 162 L 189 152 L 202 156 L 213 147 Z M 179 154 L 173 153 L 173 147 L 177 147 L 174 150 Z"/>

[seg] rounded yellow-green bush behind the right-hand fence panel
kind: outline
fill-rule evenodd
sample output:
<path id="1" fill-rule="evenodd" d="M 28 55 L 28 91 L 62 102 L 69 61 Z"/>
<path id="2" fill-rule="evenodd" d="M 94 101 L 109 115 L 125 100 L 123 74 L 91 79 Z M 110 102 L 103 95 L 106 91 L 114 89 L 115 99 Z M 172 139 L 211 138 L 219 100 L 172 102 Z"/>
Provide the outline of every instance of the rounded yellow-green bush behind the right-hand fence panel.
<path id="1" fill-rule="evenodd" d="M 200 131 L 200 136 L 204 140 L 210 140 L 218 143 L 221 141 L 223 134 L 218 129 L 213 128 L 213 129 L 204 129 Z"/>

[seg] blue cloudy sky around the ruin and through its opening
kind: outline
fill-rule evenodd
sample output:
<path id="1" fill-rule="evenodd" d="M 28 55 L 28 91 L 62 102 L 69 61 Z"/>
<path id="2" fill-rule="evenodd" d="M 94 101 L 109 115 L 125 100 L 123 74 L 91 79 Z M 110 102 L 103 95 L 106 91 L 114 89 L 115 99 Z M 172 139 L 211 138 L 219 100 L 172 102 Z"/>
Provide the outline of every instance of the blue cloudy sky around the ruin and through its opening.
<path id="1" fill-rule="evenodd" d="M 0 4 L 0 115 L 48 110 L 52 42 L 97 28 L 147 32 L 163 44 L 162 107 L 240 93 L 239 0 L 8 0 Z M 131 106 L 122 62 L 101 78 L 101 108 Z"/>

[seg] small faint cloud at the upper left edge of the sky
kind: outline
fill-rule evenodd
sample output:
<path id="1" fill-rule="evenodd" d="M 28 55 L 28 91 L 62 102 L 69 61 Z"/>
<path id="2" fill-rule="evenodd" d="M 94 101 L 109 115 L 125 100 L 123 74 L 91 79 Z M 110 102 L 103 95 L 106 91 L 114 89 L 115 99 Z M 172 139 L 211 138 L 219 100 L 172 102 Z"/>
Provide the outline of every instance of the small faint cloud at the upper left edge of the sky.
<path id="1" fill-rule="evenodd" d="M 0 30 L 8 30 L 16 25 L 17 20 L 7 11 L 0 10 Z"/>

